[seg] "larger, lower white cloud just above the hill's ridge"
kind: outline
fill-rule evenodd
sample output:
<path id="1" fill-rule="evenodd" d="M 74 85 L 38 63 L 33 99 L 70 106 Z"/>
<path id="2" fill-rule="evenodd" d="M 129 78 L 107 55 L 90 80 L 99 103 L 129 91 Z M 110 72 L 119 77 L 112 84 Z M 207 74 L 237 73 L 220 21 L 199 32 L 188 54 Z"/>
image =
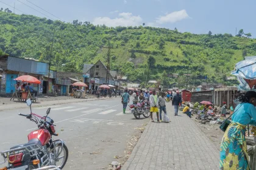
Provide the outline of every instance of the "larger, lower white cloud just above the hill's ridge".
<path id="1" fill-rule="evenodd" d="M 118 18 L 98 17 L 94 18 L 94 25 L 108 25 L 109 27 L 117 26 L 138 26 L 143 23 L 143 19 L 140 16 L 133 16 L 132 13 L 119 13 Z"/>

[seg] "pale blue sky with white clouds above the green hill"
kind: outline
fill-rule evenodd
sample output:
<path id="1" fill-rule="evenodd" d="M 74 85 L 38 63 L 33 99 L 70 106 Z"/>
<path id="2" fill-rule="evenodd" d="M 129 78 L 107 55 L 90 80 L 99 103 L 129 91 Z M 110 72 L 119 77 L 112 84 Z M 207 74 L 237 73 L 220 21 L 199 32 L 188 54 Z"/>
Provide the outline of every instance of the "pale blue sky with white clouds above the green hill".
<path id="1" fill-rule="evenodd" d="M 14 3 L 17 14 L 60 18 L 66 22 L 78 19 L 113 27 L 144 22 L 153 27 L 177 27 L 180 32 L 208 33 L 211 30 L 232 35 L 237 28 L 256 36 L 255 0 L 0 0 L 0 7 L 13 11 Z"/>

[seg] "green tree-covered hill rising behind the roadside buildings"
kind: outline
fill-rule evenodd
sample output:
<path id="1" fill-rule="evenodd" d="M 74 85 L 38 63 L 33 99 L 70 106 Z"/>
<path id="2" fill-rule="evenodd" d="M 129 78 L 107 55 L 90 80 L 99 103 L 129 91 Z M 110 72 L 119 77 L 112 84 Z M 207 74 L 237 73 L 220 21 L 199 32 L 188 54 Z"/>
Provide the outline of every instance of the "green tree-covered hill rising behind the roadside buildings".
<path id="1" fill-rule="evenodd" d="M 230 34 L 195 35 L 142 25 L 113 28 L 0 12 L 2 52 L 46 62 L 52 58 L 52 69 L 81 72 L 84 63 L 105 63 L 107 49 L 102 47 L 108 46 L 109 39 L 113 47 L 111 69 L 130 80 L 163 82 L 166 73 L 189 73 L 191 84 L 197 75 L 207 75 L 208 82 L 220 83 L 243 56 L 256 55 L 256 39 Z M 166 80 L 186 82 L 184 77 Z"/>

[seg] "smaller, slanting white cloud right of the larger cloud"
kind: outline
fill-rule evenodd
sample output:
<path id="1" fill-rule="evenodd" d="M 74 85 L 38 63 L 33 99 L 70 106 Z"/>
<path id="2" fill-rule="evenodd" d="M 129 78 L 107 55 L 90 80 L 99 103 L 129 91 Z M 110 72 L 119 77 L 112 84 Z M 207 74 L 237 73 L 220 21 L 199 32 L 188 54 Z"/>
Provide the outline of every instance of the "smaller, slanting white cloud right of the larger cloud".
<path id="1" fill-rule="evenodd" d="M 186 19 L 186 18 L 190 18 L 190 16 L 188 16 L 188 13 L 186 12 L 186 10 L 180 10 L 180 11 L 176 11 L 176 12 L 172 12 L 172 13 L 166 13 L 165 16 L 159 16 L 157 18 L 157 23 L 158 24 L 164 24 L 167 22 L 177 22 L 180 21 L 182 19 Z"/>

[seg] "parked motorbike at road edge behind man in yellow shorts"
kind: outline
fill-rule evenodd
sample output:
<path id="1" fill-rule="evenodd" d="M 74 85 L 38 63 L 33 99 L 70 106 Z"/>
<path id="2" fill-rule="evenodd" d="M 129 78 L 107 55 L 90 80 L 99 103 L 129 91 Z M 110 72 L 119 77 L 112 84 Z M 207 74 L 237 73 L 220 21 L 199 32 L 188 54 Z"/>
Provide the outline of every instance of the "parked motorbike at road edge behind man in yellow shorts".
<path id="1" fill-rule="evenodd" d="M 147 101 L 133 101 L 133 104 L 129 105 L 132 114 L 135 118 L 140 119 L 140 115 L 143 115 L 145 118 L 150 116 L 148 102 Z"/>

